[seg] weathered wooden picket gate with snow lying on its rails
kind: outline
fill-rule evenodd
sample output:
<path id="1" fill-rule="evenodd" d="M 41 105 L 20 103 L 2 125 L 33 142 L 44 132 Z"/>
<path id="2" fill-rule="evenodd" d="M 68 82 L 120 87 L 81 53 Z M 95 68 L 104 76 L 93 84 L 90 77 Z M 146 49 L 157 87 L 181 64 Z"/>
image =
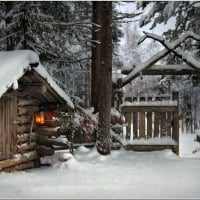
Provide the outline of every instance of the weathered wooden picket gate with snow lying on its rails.
<path id="1" fill-rule="evenodd" d="M 122 137 L 128 142 L 127 148 L 133 150 L 171 148 L 178 154 L 178 106 L 178 92 L 173 92 L 171 98 L 125 98 L 120 108 L 125 118 Z"/>

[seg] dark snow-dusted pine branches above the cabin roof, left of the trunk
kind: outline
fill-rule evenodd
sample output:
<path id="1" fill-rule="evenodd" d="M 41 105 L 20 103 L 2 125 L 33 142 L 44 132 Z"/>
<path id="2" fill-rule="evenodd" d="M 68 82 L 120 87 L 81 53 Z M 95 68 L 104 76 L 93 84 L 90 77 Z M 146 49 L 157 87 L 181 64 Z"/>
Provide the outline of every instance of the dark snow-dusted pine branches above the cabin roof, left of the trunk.
<path id="1" fill-rule="evenodd" d="M 0 49 L 36 51 L 61 87 L 76 95 L 84 92 L 91 57 L 89 4 L 1 2 Z"/>

